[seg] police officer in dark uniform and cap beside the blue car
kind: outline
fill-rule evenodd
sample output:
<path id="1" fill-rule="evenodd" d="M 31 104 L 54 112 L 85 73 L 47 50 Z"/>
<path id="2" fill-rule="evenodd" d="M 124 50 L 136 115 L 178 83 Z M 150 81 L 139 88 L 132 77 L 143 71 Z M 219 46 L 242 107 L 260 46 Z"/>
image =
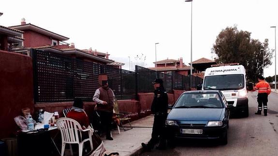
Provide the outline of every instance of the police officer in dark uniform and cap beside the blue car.
<path id="1" fill-rule="evenodd" d="M 151 151 L 158 141 L 160 143 L 157 149 L 163 150 L 166 148 L 165 121 L 168 111 L 168 95 L 163 87 L 162 79 L 155 79 L 152 84 L 155 88 L 154 99 L 151 105 L 154 122 L 150 141 L 147 144 L 142 143 L 143 149 L 146 151 Z"/>

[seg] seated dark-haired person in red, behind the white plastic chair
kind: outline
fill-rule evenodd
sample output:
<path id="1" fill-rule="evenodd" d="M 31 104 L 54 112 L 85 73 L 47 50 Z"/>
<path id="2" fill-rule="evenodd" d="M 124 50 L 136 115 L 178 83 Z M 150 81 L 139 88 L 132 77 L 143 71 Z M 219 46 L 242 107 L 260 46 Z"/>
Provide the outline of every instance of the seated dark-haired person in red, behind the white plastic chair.
<path id="1" fill-rule="evenodd" d="M 82 129 L 89 127 L 89 118 L 83 110 L 83 101 L 81 99 L 74 100 L 73 108 L 67 114 L 67 117 L 76 120 L 81 125 Z"/>

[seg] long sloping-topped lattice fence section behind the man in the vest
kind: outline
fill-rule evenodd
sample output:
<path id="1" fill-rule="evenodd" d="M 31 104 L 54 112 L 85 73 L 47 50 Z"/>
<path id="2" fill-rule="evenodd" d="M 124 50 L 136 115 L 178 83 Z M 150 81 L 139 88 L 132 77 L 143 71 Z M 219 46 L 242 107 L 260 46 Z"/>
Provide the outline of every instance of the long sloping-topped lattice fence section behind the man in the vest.
<path id="1" fill-rule="evenodd" d="M 109 86 L 117 99 L 135 99 L 135 72 L 111 66 L 62 57 L 46 51 L 32 50 L 35 102 L 92 101 L 100 87 L 98 76 L 106 72 Z"/>

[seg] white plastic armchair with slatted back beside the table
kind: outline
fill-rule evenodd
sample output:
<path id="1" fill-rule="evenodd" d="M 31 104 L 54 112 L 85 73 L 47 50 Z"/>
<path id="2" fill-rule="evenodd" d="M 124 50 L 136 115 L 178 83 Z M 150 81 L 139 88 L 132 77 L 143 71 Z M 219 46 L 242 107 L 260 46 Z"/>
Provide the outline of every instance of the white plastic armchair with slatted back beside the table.
<path id="1" fill-rule="evenodd" d="M 91 145 L 91 150 L 93 149 L 92 133 L 90 129 L 82 129 L 77 121 L 67 117 L 61 117 L 57 119 L 56 125 L 57 128 L 60 129 L 62 136 L 61 156 L 64 155 L 66 143 L 77 143 L 79 146 L 79 156 L 82 156 L 84 142 L 89 141 Z M 89 138 L 82 140 L 81 132 L 88 132 Z"/>

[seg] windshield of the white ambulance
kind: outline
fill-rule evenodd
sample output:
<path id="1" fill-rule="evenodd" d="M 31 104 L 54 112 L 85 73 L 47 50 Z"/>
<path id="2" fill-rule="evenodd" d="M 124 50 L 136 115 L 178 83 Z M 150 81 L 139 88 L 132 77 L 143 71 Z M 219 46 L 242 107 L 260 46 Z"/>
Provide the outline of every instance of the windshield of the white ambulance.
<path id="1" fill-rule="evenodd" d="M 244 88 L 244 75 L 215 75 L 206 76 L 204 90 L 238 90 Z"/>

